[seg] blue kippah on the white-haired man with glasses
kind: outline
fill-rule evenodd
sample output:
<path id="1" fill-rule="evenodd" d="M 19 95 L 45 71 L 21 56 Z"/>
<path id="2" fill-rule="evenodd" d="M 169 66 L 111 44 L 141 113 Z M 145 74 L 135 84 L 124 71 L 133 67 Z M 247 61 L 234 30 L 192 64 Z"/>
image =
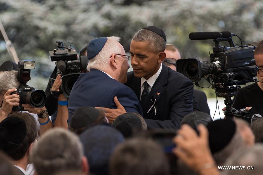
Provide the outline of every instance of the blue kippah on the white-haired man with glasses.
<path id="1" fill-rule="evenodd" d="M 98 55 L 98 53 L 104 47 L 107 40 L 108 40 L 108 38 L 102 37 L 102 38 L 96 38 L 96 39 L 93 39 L 92 41 L 90 41 L 90 43 L 87 47 L 88 60 L 91 60 L 96 55 Z"/>

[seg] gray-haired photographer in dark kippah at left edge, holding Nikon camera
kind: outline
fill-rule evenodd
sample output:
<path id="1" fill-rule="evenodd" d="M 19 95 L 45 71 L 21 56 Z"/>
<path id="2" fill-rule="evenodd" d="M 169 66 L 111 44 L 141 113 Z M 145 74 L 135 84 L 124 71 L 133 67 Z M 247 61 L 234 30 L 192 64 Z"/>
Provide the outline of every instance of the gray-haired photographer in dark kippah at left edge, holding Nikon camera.
<path id="1" fill-rule="evenodd" d="M 9 114 L 17 112 L 12 111 L 13 106 L 19 106 L 19 95 L 10 95 L 12 92 L 17 91 L 20 86 L 17 69 L 18 66 L 13 61 L 6 61 L 0 66 L 0 122 Z M 35 108 L 29 104 L 22 104 L 22 107 L 36 119 L 39 135 L 52 128 L 46 107 Z"/>

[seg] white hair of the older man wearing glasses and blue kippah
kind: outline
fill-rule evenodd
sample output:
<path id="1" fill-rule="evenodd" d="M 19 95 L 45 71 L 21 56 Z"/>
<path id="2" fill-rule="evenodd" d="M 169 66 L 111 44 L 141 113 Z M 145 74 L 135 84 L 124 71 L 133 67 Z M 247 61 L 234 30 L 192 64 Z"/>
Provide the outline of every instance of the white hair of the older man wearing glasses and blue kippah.
<path id="1" fill-rule="evenodd" d="M 110 62 L 110 57 L 114 53 L 121 53 L 120 47 L 117 45 L 117 42 L 121 40 L 120 37 L 107 37 L 107 42 L 105 43 L 102 50 L 91 60 L 89 60 L 89 64 L 87 66 L 87 70 L 98 69 L 103 70 L 105 67 L 108 67 Z M 87 53 L 89 54 L 89 53 Z"/>

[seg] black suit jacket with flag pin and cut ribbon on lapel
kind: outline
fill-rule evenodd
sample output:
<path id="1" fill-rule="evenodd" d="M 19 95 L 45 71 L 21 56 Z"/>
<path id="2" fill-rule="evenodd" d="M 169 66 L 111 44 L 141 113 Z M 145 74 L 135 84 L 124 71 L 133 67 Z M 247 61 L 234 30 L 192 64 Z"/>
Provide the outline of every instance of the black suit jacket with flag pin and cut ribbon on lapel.
<path id="1" fill-rule="evenodd" d="M 140 101 L 140 78 L 134 72 L 128 72 L 129 86 Z M 159 77 L 156 79 L 150 98 L 157 100 L 157 114 L 154 108 L 147 114 L 147 109 L 142 109 L 143 117 L 148 129 L 152 128 L 180 128 L 183 117 L 193 111 L 193 83 L 183 74 L 162 65 Z M 151 99 L 147 106 L 152 105 Z"/>

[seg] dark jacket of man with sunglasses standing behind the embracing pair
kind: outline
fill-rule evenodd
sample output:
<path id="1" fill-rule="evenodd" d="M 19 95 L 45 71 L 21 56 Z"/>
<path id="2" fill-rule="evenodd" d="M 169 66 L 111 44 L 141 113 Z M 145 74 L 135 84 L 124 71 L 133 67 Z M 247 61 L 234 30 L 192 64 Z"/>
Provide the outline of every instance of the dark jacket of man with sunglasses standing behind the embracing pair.
<path id="1" fill-rule="evenodd" d="M 195 99 L 197 100 L 197 102 L 199 104 L 200 111 L 205 112 L 208 115 L 210 115 L 210 109 L 209 109 L 208 104 L 207 104 L 207 97 L 206 97 L 205 93 L 203 91 L 198 91 L 198 90 L 194 89 L 193 94 L 194 94 Z"/>

